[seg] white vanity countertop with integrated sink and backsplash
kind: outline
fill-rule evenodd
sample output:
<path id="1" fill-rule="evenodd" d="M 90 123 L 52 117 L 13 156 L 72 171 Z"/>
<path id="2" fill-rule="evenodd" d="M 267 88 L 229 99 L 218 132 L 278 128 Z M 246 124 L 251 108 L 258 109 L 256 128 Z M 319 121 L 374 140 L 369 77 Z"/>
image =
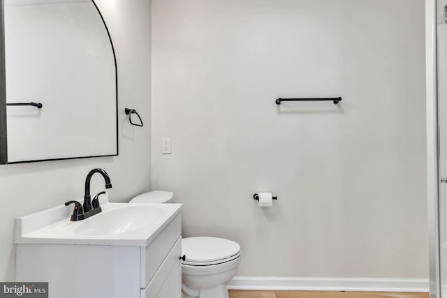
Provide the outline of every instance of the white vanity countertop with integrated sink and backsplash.
<path id="1" fill-rule="evenodd" d="M 101 213 L 70 221 L 73 207 L 60 204 L 16 219 L 16 244 L 147 246 L 180 217 L 182 204 L 112 203 L 101 195 Z"/>

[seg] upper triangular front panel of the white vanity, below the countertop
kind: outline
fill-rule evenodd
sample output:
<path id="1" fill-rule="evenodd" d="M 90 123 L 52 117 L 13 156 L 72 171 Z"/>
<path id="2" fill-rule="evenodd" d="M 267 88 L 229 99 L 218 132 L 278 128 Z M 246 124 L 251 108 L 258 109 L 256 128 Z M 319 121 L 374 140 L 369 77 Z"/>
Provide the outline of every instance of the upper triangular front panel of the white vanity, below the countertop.
<path id="1" fill-rule="evenodd" d="M 154 278 L 154 274 L 179 239 L 180 234 L 182 234 L 182 214 L 175 216 L 173 221 L 148 246 L 141 247 L 140 288 L 146 288 Z M 182 251 L 179 252 L 177 258 L 180 253 Z"/>

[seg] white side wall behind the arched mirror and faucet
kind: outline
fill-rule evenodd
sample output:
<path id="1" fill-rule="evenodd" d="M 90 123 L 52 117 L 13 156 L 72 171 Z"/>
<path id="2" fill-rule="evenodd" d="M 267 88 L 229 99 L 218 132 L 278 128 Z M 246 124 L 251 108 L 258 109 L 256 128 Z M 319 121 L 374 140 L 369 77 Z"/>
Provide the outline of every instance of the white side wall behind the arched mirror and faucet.
<path id="1" fill-rule="evenodd" d="M 0 166 L 0 281 L 14 279 L 16 216 L 81 199 L 94 167 L 110 174 L 110 200 L 124 202 L 150 188 L 150 2 L 96 0 L 108 24 L 118 64 L 119 156 Z M 137 110 L 145 126 L 131 126 L 124 107 Z M 54 142 L 64 140 L 54 140 Z M 100 175 L 91 193 L 103 189 Z M 67 257 L 69 258 L 69 257 Z"/>

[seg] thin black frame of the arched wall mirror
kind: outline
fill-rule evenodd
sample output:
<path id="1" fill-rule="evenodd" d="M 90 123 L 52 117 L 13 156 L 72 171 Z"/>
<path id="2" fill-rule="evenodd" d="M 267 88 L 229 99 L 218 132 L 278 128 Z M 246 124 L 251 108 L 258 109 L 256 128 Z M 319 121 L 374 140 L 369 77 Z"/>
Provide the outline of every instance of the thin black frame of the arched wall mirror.
<path id="1" fill-rule="evenodd" d="M 98 6 L 96 5 L 94 0 L 91 0 L 98 15 L 101 17 L 101 20 L 104 24 L 105 31 L 107 32 L 110 46 L 112 47 L 113 60 L 115 63 L 115 105 L 116 105 L 116 137 L 117 137 L 117 146 L 116 146 L 116 154 L 107 154 L 107 155 L 99 155 L 99 156 L 73 156 L 66 158 L 48 158 L 42 160 L 34 160 L 34 161 L 14 161 L 8 163 L 8 130 L 7 130 L 7 115 L 6 115 L 6 68 L 5 68 L 5 23 L 4 23 L 4 0 L 0 0 L 0 165 L 13 164 L 13 163 L 36 163 L 39 161 L 61 161 L 66 159 L 77 159 L 77 158 L 92 158 L 92 157 L 103 157 L 103 156 L 118 156 L 119 155 L 119 133 L 118 133 L 118 68 L 117 68 L 117 56 L 115 53 L 115 47 L 112 42 L 112 38 L 110 36 L 109 29 L 107 24 L 105 24 L 105 20 Z"/>

